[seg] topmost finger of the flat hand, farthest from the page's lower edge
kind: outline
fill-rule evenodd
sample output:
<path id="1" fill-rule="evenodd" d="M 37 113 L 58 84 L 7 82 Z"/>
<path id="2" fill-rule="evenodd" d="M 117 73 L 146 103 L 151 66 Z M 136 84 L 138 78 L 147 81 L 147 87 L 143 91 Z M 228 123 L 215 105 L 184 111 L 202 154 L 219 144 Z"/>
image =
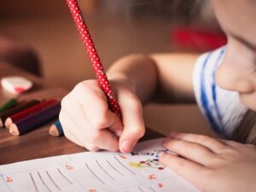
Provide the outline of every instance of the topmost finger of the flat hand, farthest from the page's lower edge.
<path id="1" fill-rule="evenodd" d="M 169 137 L 177 138 L 190 143 L 201 144 L 206 148 L 212 150 L 212 152 L 214 153 L 218 153 L 219 151 L 226 148 L 226 146 L 223 143 L 218 142 L 218 139 L 198 134 L 172 132 L 170 133 Z"/>

